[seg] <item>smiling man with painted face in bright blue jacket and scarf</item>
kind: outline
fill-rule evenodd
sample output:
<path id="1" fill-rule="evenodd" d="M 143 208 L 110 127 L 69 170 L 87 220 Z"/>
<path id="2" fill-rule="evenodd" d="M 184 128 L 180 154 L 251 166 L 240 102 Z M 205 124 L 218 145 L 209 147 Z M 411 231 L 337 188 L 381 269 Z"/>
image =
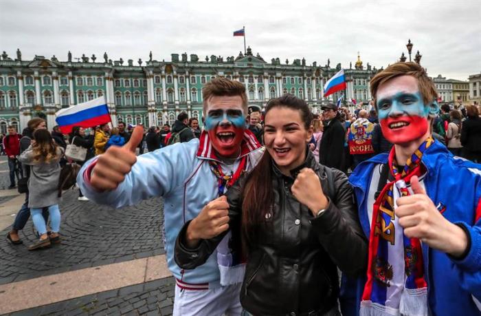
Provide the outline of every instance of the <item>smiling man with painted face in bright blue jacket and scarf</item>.
<path id="1" fill-rule="evenodd" d="M 359 313 L 480 315 L 481 165 L 433 140 L 437 93 L 421 66 L 390 65 L 370 87 L 394 147 L 350 177 L 370 238 Z"/>

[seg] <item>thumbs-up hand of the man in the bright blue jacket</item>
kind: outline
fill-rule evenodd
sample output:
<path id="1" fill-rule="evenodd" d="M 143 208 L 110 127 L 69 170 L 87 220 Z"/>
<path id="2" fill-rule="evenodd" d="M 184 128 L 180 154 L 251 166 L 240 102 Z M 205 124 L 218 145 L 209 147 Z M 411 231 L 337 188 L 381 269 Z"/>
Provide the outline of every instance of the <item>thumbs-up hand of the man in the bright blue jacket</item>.
<path id="1" fill-rule="evenodd" d="M 465 231 L 439 213 L 417 176 L 411 178 L 411 189 L 414 194 L 397 199 L 394 211 L 404 234 L 454 257 L 462 255 L 468 244 Z"/>

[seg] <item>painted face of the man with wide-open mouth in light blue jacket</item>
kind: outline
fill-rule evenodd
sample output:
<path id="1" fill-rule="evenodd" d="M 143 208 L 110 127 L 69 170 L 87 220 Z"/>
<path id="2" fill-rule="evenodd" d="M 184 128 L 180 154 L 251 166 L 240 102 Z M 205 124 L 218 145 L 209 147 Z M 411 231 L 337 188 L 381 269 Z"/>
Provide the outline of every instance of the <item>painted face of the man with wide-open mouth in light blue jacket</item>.
<path id="1" fill-rule="evenodd" d="M 245 116 L 240 109 L 210 109 L 205 118 L 212 147 L 220 156 L 235 157 L 240 150 L 245 129 Z"/>

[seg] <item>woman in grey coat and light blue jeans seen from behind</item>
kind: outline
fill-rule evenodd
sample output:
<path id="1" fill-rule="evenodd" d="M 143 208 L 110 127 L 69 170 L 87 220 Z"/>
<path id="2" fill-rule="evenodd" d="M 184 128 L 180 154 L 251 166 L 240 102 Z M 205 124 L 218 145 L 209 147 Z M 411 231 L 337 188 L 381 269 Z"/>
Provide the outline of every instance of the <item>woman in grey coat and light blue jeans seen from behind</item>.
<path id="1" fill-rule="evenodd" d="M 58 178 L 63 156 L 63 148 L 55 144 L 46 129 L 34 132 L 32 145 L 19 156 L 21 163 L 32 166 L 28 180 L 28 207 L 32 213 L 34 227 L 40 234 L 40 240 L 29 250 L 48 247 L 60 242 L 60 209 L 58 209 Z M 47 207 L 50 215 L 52 233 L 47 235 L 47 225 L 42 217 L 42 209 Z"/>

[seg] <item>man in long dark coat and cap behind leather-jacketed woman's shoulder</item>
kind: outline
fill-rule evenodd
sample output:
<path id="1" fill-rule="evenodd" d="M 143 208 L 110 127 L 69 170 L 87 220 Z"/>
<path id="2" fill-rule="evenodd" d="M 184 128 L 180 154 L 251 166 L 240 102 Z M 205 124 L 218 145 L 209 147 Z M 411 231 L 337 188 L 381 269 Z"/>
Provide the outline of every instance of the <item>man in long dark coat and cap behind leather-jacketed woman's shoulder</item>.
<path id="1" fill-rule="evenodd" d="M 339 112 L 334 103 L 322 106 L 324 134 L 319 145 L 319 163 L 326 167 L 346 172 L 344 163 L 344 141 L 346 131 L 339 122 Z"/>

